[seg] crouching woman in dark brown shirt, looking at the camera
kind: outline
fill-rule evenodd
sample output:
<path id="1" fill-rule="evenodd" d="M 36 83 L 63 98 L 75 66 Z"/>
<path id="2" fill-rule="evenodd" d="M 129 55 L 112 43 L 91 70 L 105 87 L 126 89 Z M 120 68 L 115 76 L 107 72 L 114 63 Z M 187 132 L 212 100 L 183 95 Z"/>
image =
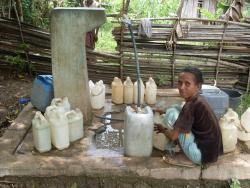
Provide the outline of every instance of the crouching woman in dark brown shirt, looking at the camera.
<path id="1" fill-rule="evenodd" d="M 185 155 L 199 165 L 217 161 L 223 151 L 217 118 L 209 104 L 199 95 L 202 83 L 199 69 L 183 69 L 179 75 L 178 90 L 185 99 L 185 105 L 173 125 L 174 129 L 168 131 L 161 124 L 155 124 L 158 133 L 178 140 Z"/>

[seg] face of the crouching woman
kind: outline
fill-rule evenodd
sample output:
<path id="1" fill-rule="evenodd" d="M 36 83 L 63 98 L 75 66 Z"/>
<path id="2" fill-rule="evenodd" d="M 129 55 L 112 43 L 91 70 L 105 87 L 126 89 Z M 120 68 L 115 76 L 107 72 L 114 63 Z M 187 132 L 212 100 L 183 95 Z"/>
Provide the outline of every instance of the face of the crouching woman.
<path id="1" fill-rule="evenodd" d="M 182 72 L 179 75 L 178 89 L 181 97 L 188 99 L 198 94 L 200 84 L 195 82 L 195 77 L 192 73 Z"/>

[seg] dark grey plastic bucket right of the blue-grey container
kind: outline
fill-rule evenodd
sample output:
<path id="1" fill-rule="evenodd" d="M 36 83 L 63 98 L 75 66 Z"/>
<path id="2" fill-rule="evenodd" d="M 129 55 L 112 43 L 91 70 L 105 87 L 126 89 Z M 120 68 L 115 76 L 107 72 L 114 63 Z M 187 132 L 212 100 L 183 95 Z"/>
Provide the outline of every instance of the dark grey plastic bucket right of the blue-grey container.
<path id="1" fill-rule="evenodd" d="M 240 104 L 241 93 L 236 90 L 227 88 L 223 88 L 221 90 L 224 91 L 229 96 L 229 107 L 236 110 Z"/>

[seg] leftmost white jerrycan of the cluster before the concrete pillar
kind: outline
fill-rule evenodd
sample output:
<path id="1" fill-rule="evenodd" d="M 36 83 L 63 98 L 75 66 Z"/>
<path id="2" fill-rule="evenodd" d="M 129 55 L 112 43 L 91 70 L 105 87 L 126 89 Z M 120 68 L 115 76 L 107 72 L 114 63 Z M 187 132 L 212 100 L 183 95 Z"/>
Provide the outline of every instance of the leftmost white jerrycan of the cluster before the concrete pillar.
<path id="1" fill-rule="evenodd" d="M 37 111 L 32 119 L 32 132 L 35 148 L 40 152 L 51 149 L 51 136 L 49 122 L 41 112 Z"/>

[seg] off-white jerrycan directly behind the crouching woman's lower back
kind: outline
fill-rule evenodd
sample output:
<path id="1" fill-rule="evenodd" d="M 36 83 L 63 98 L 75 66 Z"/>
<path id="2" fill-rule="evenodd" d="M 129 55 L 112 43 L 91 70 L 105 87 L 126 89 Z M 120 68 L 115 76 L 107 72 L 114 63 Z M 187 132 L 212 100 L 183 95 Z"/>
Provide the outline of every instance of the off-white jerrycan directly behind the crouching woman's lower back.
<path id="1" fill-rule="evenodd" d="M 234 119 L 232 118 L 227 119 L 224 116 L 219 121 L 224 153 L 234 151 L 236 148 L 237 128 L 235 126 L 235 123 L 236 122 Z"/>

